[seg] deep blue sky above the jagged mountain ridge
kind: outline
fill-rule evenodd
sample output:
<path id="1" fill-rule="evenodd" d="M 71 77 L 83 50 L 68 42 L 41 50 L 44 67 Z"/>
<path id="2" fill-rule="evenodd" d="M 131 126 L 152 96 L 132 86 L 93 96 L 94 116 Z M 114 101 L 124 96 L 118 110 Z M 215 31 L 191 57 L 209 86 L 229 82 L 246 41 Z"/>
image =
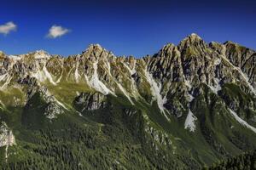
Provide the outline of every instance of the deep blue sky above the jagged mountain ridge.
<path id="1" fill-rule="evenodd" d="M 249 0 L 3 0 L 0 50 L 67 56 L 99 43 L 116 55 L 142 57 L 192 32 L 207 42 L 230 40 L 256 49 L 255 8 Z"/>

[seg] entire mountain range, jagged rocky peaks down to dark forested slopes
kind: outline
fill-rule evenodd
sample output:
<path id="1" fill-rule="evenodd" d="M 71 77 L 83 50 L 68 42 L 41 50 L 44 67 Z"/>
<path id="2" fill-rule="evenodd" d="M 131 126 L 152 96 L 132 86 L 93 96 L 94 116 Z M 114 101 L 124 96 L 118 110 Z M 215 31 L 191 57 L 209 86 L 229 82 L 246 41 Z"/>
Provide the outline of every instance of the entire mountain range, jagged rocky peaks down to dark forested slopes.
<path id="1" fill-rule="evenodd" d="M 255 150 L 256 51 L 236 42 L 0 52 L 1 170 L 249 170 Z"/>

